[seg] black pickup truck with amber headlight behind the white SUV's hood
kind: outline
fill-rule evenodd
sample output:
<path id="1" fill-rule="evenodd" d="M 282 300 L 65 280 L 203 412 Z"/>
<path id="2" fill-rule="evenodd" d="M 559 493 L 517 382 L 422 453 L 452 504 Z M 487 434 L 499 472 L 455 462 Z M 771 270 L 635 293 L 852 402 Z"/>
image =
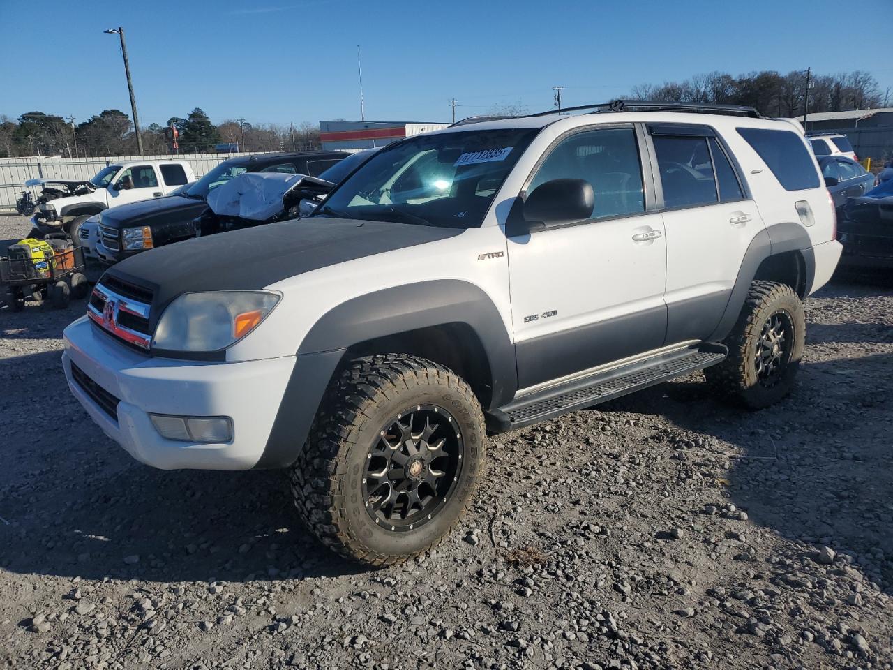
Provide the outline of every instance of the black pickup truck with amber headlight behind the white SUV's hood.
<path id="1" fill-rule="evenodd" d="M 319 177 L 347 156 L 349 154 L 340 151 L 304 151 L 230 158 L 177 196 L 144 200 L 104 211 L 99 219 L 96 255 L 104 264 L 115 264 L 146 249 L 195 237 L 193 221 L 207 210 L 208 194 L 243 172 L 284 172 Z"/>

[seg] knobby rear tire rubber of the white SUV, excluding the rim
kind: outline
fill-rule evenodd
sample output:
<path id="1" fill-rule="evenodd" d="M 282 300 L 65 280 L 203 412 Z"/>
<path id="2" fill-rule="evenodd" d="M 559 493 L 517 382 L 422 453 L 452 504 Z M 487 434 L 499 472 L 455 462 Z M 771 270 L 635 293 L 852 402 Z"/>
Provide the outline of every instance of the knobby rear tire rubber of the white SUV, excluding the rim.
<path id="1" fill-rule="evenodd" d="M 758 379 L 755 356 L 765 323 L 779 311 L 789 319 L 793 337 L 787 363 L 777 381 L 769 386 Z M 705 370 L 708 383 L 725 398 L 750 409 L 774 405 L 794 388 L 803 357 L 805 333 L 803 304 L 794 289 L 775 281 L 754 281 L 738 321 L 724 340 L 729 356 Z"/>

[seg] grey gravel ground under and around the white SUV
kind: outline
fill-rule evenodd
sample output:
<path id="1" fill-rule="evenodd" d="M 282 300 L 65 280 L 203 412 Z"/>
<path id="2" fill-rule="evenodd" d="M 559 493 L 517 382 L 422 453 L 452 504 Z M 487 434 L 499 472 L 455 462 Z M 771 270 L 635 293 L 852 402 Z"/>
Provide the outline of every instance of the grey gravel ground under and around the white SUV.
<path id="1" fill-rule="evenodd" d="M 84 308 L 0 309 L 0 666 L 893 667 L 889 286 L 806 302 L 780 406 L 692 375 L 490 440 L 462 530 L 380 571 L 307 535 L 283 473 L 107 440 L 59 364 Z"/>

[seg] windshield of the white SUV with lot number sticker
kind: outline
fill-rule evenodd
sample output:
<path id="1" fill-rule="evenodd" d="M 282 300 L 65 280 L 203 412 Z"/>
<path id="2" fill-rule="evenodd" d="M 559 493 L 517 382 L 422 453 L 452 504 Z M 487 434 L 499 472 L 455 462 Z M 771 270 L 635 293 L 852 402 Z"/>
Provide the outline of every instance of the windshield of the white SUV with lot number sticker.
<path id="1" fill-rule="evenodd" d="M 314 216 L 475 228 L 537 132 L 466 130 L 396 142 L 333 190 Z"/>

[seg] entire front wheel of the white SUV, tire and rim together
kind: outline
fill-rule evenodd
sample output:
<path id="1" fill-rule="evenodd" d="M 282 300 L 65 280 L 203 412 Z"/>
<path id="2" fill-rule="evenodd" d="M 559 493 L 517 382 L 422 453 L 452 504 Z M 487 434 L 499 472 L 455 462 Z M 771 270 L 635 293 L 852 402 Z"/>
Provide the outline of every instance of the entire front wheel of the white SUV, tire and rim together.
<path id="1" fill-rule="evenodd" d="M 421 415 L 425 415 L 423 423 Z M 414 428 L 423 426 L 417 434 L 413 434 L 415 416 L 419 418 L 414 419 Z M 393 440 L 395 447 L 388 437 L 401 417 L 409 423 L 411 440 L 407 444 L 407 433 L 402 432 L 402 438 Z M 443 421 L 444 417 L 449 418 Z M 437 428 L 429 432 L 430 426 Z M 472 498 L 483 469 L 484 436 L 484 418 L 472 389 L 443 365 L 397 354 L 357 358 L 330 382 L 310 438 L 292 466 L 291 490 L 298 515 L 322 544 L 360 563 L 392 565 L 418 556 L 453 529 Z M 441 439 L 452 441 L 428 449 Z M 420 465 L 418 454 L 435 450 L 440 456 Z M 371 468 L 379 465 L 372 464 L 383 459 L 384 452 L 394 456 L 387 456 L 381 470 L 388 473 L 376 477 Z M 398 456 L 403 465 L 394 465 Z M 395 467 L 407 481 L 413 470 L 415 477 L 424 476 L 426 482 L 430 476 L 440 477 L 433 480 L 439 488 L 429 489 L 429 484 L 415 480 L 415 500 L 422 495 L 430 499 L 420 501 L 421 507 L 414 512 L 408 502 L 411 492 L 398 491 L 389 481 Z M 384 482 L 387 498 L 375 495 L 382 480 L 388 480 Z M 403 496 L 407 500 L 402 509 L 405 520 L 393 522 L 402 524 L 396 530 L 387 517 L 400 514 L 400 503 L 382 504 L 376 511 L 376 505 L 392 495 L 395 500 Z M 414 524 L 410 523 L 413 519 Z"/>

